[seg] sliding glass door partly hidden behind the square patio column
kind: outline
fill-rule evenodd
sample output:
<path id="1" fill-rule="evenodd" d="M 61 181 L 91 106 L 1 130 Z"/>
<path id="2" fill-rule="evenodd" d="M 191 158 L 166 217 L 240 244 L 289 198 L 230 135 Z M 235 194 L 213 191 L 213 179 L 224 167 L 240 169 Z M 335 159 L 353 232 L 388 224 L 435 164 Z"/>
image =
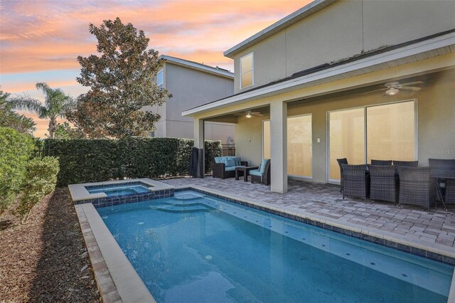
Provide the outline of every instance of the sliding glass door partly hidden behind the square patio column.
<path id="1" fill-rule="evenodd" d="M 262 122 L 262 151 L 270 159 L 270 121 Z M 311 115 L 287 118 L 287 172 L 290 176 L 311 178 L 312 173 Z"/>

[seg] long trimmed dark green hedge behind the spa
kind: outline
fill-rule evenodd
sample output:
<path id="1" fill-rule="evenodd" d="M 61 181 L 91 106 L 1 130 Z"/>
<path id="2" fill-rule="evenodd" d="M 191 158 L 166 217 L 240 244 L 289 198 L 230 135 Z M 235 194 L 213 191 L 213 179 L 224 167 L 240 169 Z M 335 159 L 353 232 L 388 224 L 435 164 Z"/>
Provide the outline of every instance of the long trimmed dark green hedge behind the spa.
<path id="1" fill-rule="evenodd" d="M 60 159 L 58 186 L 123 178 L 162 178 L 188 174 L 192 139 L 46 139 L 47 156 Z M 210 171 L 219 141 L 205 142 L 205 169 Z"/>

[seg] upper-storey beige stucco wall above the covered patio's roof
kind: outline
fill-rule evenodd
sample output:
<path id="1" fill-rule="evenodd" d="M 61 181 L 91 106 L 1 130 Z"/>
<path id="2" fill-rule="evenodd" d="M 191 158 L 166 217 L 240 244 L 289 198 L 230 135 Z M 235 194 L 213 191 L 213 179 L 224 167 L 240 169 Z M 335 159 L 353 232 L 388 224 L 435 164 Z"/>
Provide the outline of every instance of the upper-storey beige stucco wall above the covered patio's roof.
<path id="1" fill-rule="evenodd" d="M 350 58 L 363 51 L 412 41 L 455 28 L 455 1 L 341 0 L 235 55 L 253 52 L 255 84 Z"/>

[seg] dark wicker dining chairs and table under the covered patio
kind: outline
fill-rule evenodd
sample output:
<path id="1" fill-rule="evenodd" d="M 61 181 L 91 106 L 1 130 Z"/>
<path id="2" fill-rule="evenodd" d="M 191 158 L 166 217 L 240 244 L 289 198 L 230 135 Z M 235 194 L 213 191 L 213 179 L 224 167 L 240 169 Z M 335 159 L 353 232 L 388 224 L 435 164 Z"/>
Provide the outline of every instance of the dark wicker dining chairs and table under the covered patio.
<path id="1" fill-rule="evenodd" d="M 441 201 L 455 203 L 455 159 L 429 159 L 429 166 L 418 161 L 371 160 L 370 165 L 349 165 L 337 159 L 341 172 L 340 191 L 345 196 L 412 204 L 429 208 Z M 437 196 L 436 196 L 437 195 Z"/>

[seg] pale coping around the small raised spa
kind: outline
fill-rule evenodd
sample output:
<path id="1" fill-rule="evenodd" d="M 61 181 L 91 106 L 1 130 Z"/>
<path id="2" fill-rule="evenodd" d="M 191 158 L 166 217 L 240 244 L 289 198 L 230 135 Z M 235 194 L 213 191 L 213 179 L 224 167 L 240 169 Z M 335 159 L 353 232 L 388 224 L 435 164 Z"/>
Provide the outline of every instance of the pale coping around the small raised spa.
<path id="1" fill-rule="evenodd" d="M 70 189 L 70 195 L 74 202 L 77 201 L 86 201 L 97 198 L 107 198 L 106 193 L 89 193 L 86 186 L 106 186 L 112 184 L 132 184 L 132 183 L 142 183 L 149 186 L 149 191 L 153 193 L 154 191 L 163 191 L 173 188 L 169 184 L 165 184 L 160 181 L 152 180 L 149 178 L 139 178 L 139 179 L 125 179 L 125 180 L 112 180 L 105 182 L 90 182 L 90 183 L 80 183 L 80 184 L 70 184 L 68 188 Z"/>

